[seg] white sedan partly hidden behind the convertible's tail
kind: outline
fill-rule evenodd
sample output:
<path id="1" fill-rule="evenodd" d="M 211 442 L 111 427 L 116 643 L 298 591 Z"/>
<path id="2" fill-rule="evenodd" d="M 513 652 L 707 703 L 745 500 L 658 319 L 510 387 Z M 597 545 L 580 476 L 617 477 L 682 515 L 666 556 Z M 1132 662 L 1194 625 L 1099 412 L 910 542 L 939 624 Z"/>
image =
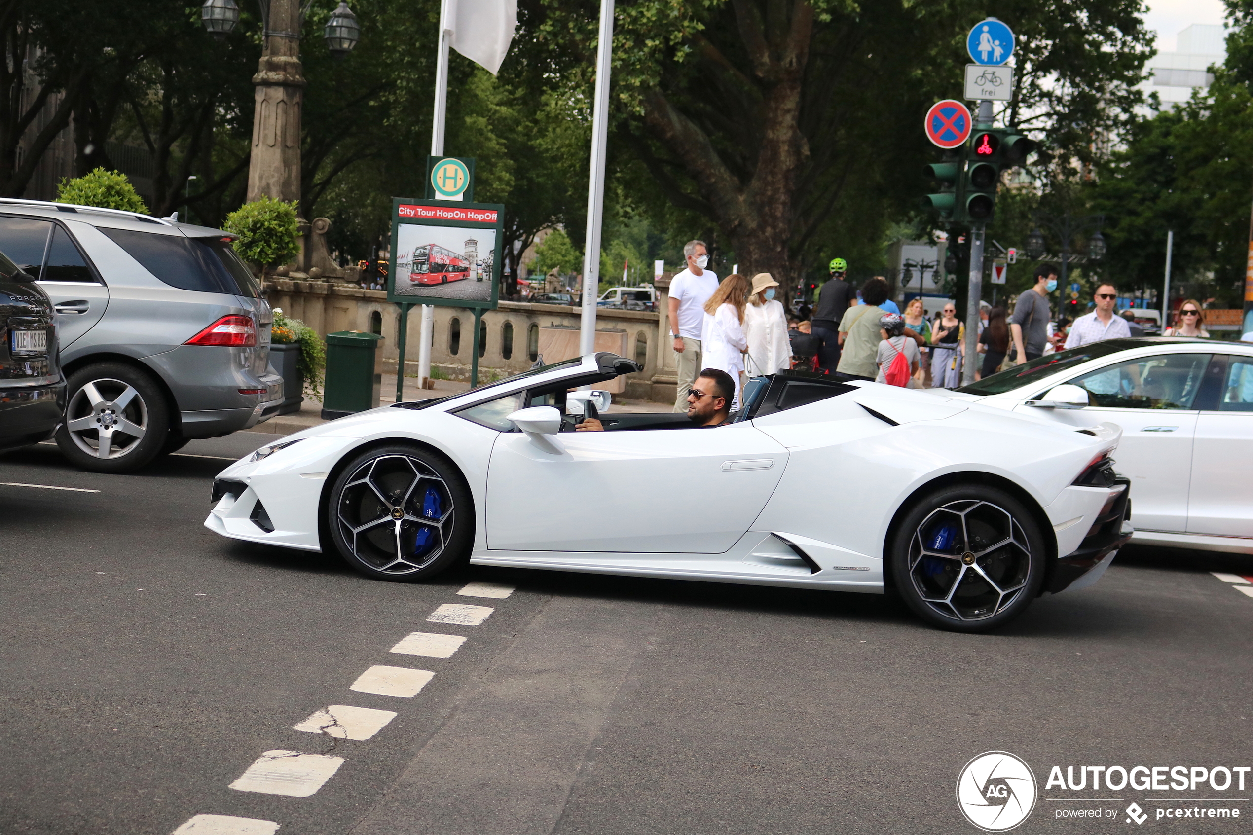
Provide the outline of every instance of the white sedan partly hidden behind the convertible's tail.
<path id="1" fill-rule="evenodd" d="M 1135 542 L 1253 553 L 1253 344 L 1109 339 L 946 394 L 1061 426 L 1116 423 Z"/>

